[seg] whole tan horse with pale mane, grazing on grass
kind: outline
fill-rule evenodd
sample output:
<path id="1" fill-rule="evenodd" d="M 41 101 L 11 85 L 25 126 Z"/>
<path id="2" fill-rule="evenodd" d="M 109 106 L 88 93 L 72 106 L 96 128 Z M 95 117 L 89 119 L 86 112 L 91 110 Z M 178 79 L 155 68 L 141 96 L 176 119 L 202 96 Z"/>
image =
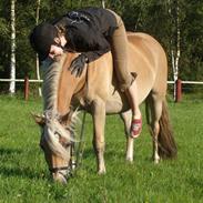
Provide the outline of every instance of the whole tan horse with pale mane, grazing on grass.
<path id="1" fill-rule="evenodd" d="M 168 62 L 158 41 L 144 33 L 129 33 L 129 69 L 136 72 L 139 102 L 146 102 L 146 119 L 153 141 L 153 160 L 174 158 L 176 145 L 166 111 Z M 121 114 L 126 134 L 126 160 L 133 161 L 133 139 L 129 136 L 131 116 L 125 95 L 119 91 L 113 74 L 112 55 L 106 53 L 87 65 L 80 78 L 68 68 L 77 53 L 65 53 L 44 71 L 44 118 L 37 118 L 43 126 L 41 146 L 54 180 L 65 182 L 70 165 L 72 130 L 71 108 L 81 106 L 93 118 L 93 146 L 98 172 L 105 173 L 104 123 L 105 114 Z"/>

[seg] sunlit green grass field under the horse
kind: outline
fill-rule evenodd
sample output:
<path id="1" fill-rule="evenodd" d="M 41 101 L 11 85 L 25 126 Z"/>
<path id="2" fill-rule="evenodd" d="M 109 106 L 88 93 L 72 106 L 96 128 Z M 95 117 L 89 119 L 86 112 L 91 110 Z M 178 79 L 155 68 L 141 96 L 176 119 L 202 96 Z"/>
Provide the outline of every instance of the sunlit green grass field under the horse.
<path id="1" fill-rule="evenodd" d="M 142 106 L 143 108 L 143 106 Z M 119 116 L 106 119 L 106 174 L 98 175 L 91 145 L 92 123 L 87 118 L 82 168 L 63 186 L 49 180 L 39 148 L 40 130 L 30 112 L 41 112 L 41 101 L 0 97 L 0 202 L 18 203 L 202 203 L 203 102 L 169 103 L 177 159 L 154 165 L 151 138 L 144 122 L 132 164 L 124 160 L 125 139 Z M 143 114 L 144 118 L 144 114 Z"/>

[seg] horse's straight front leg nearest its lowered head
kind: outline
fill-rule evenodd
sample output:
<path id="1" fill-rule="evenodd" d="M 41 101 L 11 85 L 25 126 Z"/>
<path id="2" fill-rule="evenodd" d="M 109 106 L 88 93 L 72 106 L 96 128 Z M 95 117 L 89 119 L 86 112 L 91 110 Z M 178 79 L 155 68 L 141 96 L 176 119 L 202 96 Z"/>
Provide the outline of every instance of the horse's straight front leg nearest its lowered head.
<path id="1" fill-rule="evenodd" d="M 98 161 L 98 173 L 105 173 L 104 164 L 104 125 L 105 125 L 105 103 L 101 99 L 93 101 L 93 146 Z"/>

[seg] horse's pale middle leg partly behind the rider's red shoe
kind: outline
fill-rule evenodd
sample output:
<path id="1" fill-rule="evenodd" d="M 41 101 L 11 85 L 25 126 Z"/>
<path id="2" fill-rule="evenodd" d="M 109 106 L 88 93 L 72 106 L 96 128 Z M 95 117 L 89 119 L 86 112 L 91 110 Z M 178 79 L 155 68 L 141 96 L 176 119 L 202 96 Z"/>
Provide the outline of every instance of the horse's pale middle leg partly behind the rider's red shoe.
<path id="1" fill-rule="evenodd" d="M 132 162 L 133 161 L 133 146 L 134 146 L 134 139 L 130 136 L 130 128 L 131 128 L 131 120 L 132 120 L 132 111 L 129 110 L 124 113 L 121 113 L 121 119 L 124 122 L 124 131 L 126 136 L 126 160 Z"/>

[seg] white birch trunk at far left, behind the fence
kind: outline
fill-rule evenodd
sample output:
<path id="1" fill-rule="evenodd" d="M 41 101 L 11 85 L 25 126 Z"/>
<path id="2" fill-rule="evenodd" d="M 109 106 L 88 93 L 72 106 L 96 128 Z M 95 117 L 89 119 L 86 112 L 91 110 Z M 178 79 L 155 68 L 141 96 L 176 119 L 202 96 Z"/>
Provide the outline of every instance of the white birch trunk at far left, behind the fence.
<path id="1" fill-rule="evenodd" d="M 13 94 L 16 92 L 16 13 L 14 13 L 16 0 L 11 0 L 11 61 L 10 61 L 10 82 L 9 92 Z"/>

